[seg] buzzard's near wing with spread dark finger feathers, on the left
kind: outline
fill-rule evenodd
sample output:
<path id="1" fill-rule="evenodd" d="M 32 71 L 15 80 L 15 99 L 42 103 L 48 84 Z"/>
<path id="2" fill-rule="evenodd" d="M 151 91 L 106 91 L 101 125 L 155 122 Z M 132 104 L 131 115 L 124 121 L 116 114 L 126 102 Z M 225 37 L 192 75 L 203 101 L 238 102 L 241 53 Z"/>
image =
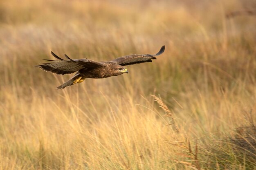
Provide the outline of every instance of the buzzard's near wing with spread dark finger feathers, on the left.
<path id="1" fill-rule="evenodd" d="M 92 68 L 93 69 L 93 68 L 105 66 L 101 62 L 95 62 L 95 61 L 89 60 L 89 59 L 72 60 L 67 55 L 65 55 L 65 57 L 68 60 L 63 60 L 62 58 L 58 57 L 53 52 L 51 52 L 51 53 L 58 60 L 46 60 L 46 61 L 51 61 L 51 62 L 43 63 L 41 65 L 38 65 L 38 67 L 40 67 L 44 71 L 50 71 L 51 73 L 55 73 L 55 74 L 61 74 L 61 75 L 71 74 L 71 73 L 79 71 L 83 68 Z"/>

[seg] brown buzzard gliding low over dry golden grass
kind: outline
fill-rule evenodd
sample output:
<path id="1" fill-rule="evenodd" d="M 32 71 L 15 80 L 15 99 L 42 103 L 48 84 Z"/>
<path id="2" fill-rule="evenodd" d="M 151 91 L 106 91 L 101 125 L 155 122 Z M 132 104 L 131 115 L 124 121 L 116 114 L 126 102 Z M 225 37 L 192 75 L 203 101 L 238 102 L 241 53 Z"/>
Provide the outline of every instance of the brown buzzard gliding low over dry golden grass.
<path id="1" fill-rule="evenodd" d="M 67 60 L 63 60 L 53 52 L 52 55 L 58 60 L 46 60 L 48 63 L 38 65 L 42 70 L 55 73 L 57 75 L 71 74 L 77 72 L 74 77 L 67 82 L 58 86 L 57 89 L 63 89 L 73 84 L 81 83 L 85 78 L 106 78 L 111 76 L 128 73 L 124 68 L 126 65 L 138 64 L 143 62 L 152 62 L 151 59 L 157 59 L 156 56 L 164 53 L 165 46 L 162 46 L 160 51 L 155 55 L 150 54 L 132 54 L 116 58 L 108 62 L 96 62 L 87 58 L 71 59 L 65 54 Z"/>

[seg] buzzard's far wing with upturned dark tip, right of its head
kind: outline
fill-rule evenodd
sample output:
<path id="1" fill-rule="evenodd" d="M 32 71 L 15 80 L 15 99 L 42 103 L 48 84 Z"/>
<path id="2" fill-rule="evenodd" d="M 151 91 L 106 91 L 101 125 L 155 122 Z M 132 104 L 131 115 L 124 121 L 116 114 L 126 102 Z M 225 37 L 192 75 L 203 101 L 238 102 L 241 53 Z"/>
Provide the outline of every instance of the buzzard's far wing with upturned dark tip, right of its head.
<path id="1" fill-rule="evenodd" d="M 115 62 L 121 66 L 126 65 L 132 65 L 132 64 L 138 64 L 143 62 L 152 62 L 151 59 L 157 59 L 155 56 L 160 55 L 164 53 L 165 46 L 162 46 L 158 53 L 155 55 L 150 54 L 132 54 L 132 55 L 126 55 L 123 57 L 116 58 L 115 60 L 112 60 L 110 62 Z"/>

